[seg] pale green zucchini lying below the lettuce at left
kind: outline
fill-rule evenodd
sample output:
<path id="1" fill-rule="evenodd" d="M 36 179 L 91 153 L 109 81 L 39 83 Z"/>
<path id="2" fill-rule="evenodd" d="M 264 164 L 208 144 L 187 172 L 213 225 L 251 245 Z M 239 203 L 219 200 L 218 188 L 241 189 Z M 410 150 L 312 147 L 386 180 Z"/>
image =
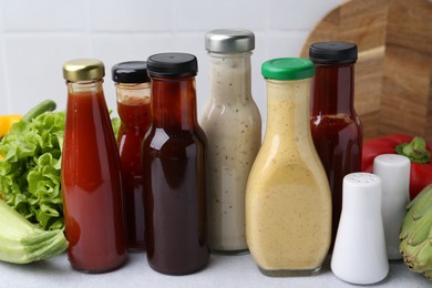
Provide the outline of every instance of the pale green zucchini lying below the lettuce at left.
<path id="1" fill-rule="evenodd" d="M 37 228 L 0 200 L 0 260 L 25 264 L 63 253 L 69 243 L 62 230 Z"/>

